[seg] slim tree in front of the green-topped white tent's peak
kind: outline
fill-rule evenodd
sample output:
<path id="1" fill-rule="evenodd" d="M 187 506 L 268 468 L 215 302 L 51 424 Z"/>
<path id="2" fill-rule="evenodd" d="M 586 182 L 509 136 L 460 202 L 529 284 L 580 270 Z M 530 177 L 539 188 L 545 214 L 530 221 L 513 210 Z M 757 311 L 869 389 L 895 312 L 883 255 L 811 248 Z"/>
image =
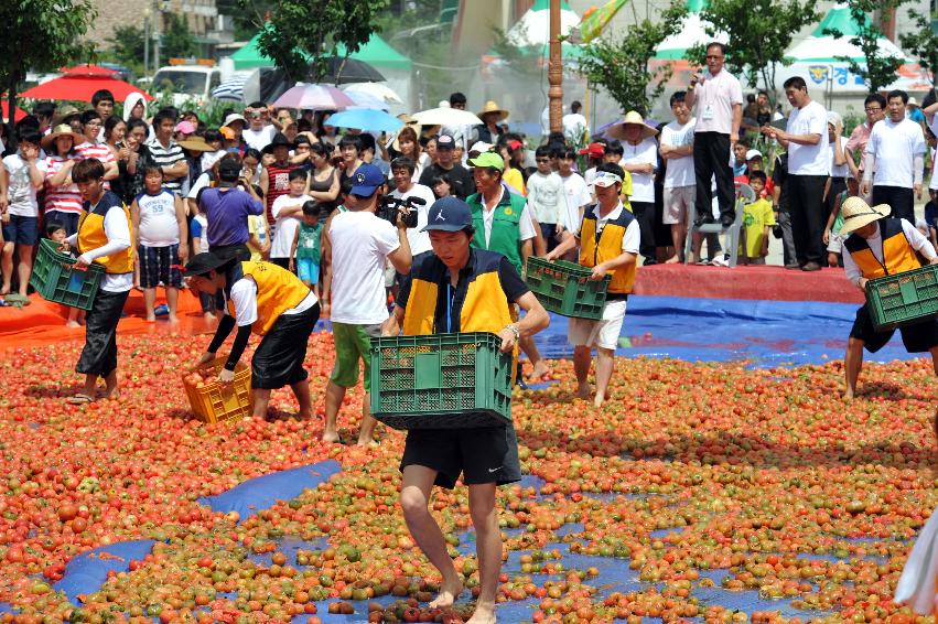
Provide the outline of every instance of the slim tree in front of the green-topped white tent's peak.
<path id="1" fill-rule="evenodd" d="M 896 69 L 905 61 L 902 56 L 883 54 L 880 51 L 880 39 L 883 36 L 883 33 L 870 20 L 867 14 L 872 14 L 874 11 L 880 11 L 881 14 L 886 13 L 903 2 L 904 0 L 849 0 L 848 2 L 850 18 L 856 29 L 852 33 L 852 36 L 850 36 L 850 43 L 863 51 L 866 63 L 865 65 L 858 63 L 849 56 L 838 56 L 837 60 L 850 65 L 850 71 L 858 76 L 863 76 L 870 93 L 877 93 L 883 87 L 894 83 L 896 79 Z M 824 34 L 829 34 L 834 39 L 848 35 L 848 33 L 843 33 L 839 29 L 824 29 Z"/>

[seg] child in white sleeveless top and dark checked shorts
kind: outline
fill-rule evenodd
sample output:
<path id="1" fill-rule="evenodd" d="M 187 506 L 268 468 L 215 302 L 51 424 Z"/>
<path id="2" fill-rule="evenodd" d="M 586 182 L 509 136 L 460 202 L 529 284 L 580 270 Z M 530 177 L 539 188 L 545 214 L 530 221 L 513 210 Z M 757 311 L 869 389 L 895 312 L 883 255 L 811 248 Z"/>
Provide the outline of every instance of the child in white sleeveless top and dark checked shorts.
<path id="1" fill-rule="evenodd" d="M 188 224 L 183 200 L 163 187 L 163 170 L 155 164 L 143 169 L 144 190 L 130 205 L 133 224 L 133 249 L 140 266 L 140 288 L 147 309 L 147 321 L 157 320 L 157 287 L 166 290 L 170 322 L 175 323 L 182 267 L 188 258 Z"/>

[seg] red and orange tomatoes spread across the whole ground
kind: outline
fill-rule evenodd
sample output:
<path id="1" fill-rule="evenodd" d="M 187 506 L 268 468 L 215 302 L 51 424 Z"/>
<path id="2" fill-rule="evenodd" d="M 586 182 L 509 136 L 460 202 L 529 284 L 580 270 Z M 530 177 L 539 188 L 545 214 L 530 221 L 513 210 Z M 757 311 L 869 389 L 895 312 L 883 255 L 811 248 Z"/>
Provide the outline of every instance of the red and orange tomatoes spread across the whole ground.
<path id="1" fill-rule="evenodd" d="M 466 489 L 431 502 L 468 592 L 433 610 L 439 578 L 398 505 L 403 434 L 380 428 L 371 449 L 319 440 L 331 336 L 311 338 L 311 422 L 291 418 L 289 390 L 273 392 L 268 420 L 193 419 L 183 377 L 212 380 L 187 372 L 204 340 L 121 336 L 120 396 L 77 407 L 63 399 L 80 384 L 71 373 L 80 344 L 4 354 L 0 602 L 20 613 L 6 618 L 467 617 L 478 566 Z M 594 409 L 574 399 L 571 364 L 553 363 L 556 384 L 515 395 L 531 476 L 498 492 L 509 561 L 499 602 L 532 622 L 775 621 L 783 604 L 800 620 L 913 621 L 891 596 L 938 505 L 932 375 L 924 361 L 869 365 L 849 402 L 839 363 L 621 359 L 611 400 Z M 346 440 L 362 398 L 352 391 L 343 406 Z M 326 459 L 343 471 L 250 517 L 198 502 Z M 76 555 L 141 538 L 157 540 L 152 552 L 99 591 L 72 603 L 54 590 Z M 626 577 L 633 585 L 612 587 Z M 761 598 L 759 609 L 721 604 L 733 592 Z"/>

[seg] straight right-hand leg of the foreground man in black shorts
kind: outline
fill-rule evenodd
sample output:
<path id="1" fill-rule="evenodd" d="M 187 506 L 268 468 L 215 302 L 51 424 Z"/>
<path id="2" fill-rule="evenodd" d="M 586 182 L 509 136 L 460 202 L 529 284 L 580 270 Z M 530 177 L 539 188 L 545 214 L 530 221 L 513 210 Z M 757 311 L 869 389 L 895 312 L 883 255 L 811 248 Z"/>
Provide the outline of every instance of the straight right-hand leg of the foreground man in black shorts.
<path id="1" fill-rule="evenodd" d="M 495 484 L 470 485 L 470 515 L 475 528 L 475 552 L 478 559 L 479 593 L 475 612 L 467 624 L 495 622 L 495 595 L 502 573 L 502 531 L 495 510 Z"/>

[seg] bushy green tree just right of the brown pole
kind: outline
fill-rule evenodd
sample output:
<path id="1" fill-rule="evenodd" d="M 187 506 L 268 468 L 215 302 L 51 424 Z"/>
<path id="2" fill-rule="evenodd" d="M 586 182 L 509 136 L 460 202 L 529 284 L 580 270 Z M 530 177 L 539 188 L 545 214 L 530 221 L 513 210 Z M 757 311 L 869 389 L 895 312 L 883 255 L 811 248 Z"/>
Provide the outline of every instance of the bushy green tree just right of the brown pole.
<path id="1" fill-rule="evenodd" d="M 657 23 L 646 19 L 630 25 L 618 41 L 594 40 L 583 47 L 578 71 L 591 83 L 601 85 L 623 112 L 647 114 L 671 76 L 670 67 L 653 69 L 649 61 L 659 43 L 680 31 L 686 15 L 684 2 L 673 0 Z"/>

